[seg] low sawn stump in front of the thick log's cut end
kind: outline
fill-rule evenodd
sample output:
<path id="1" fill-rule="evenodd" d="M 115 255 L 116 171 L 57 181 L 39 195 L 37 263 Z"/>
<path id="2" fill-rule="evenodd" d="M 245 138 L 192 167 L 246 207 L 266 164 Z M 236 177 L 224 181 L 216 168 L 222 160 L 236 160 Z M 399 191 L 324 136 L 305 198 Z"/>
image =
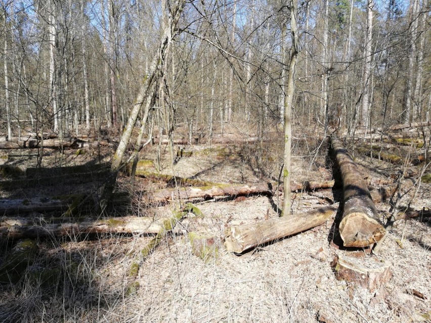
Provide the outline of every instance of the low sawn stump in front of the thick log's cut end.
<path id="1" fill-rule="evenodd" d="M 375 291 L 391 279 L 391 264 L 375 257 L 335 256 L 331 263 L 337 280 L 344 280 Z"/>

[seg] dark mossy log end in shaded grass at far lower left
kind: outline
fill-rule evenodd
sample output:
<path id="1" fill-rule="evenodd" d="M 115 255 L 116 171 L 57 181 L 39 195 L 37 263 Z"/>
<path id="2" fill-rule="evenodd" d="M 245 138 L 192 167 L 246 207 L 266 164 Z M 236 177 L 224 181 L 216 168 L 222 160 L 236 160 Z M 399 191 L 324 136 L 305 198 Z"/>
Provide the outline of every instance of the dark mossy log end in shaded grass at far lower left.
<path id="1" fill-rule="evenodd" d="M 38 247 L 33 240 L 18 241 L 0 266 L 0 283 L 17 283 L 27 266 L 33 263 L 37 251 Z"/>

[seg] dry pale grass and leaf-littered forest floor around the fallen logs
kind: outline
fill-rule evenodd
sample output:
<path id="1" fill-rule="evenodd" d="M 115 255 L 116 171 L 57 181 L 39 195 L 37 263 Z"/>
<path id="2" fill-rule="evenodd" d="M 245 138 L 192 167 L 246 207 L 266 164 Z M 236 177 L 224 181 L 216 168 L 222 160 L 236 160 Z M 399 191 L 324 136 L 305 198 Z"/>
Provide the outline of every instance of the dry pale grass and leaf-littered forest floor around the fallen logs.
<path id="1" fill-rule="evenodd" d="M 246 138 L 228 129 L 232 137 Z M 226 135 L 229 137 L 228 135 Z M 140 159 L 150 160 L 148 172 L 217 183 L 277 182 L 282 167 L 282 142 L 269 134 L 262 144 L 236 140 L 223 144 L 175 146 L 191 156 L 171 163 L 168 146 L 146 146 Z M 397 146 L 398 147 L 398 146 Z M 350 150 L 353 147 L 348 147 Z M 386 148 L 386 150 L 389 148 Z M 262 152 L 258 153 L 259 151 Z M 351 151 L 367 181 L 376 187 L 396 183 L 404 166 L 379 161 Z M 6 155 L 6 152 L 0 152 Z M 43 167 L 109 163 L 113 147 L 102 151 L 47 151 Z M 25 170 L 34 167 L 35 150 L 14 150 L 4 164 Z M 331 179 L 333 165 L 327 145 L 312 134 L 296 138 L 292 150 L 292 180 Z M 159 156 L 159 157 L 158 157 Z M 413 158 L 413 157 L 412 157 Z M 408 168 L 419 173 L 421 165 Z M 429 170 L 428 170 L 429 172 Z M 73 175 L 72 175 L 73 176 Z M 6 180 L 14 180 L 3 175 Z M 8 177 L 8 178 L 7 178 Z M 18 176 L 19 177 L 19 176 Z M 394 177 L 394 176 L 393 176 Z M 417 176 L 404 179 L 401 206 L 413 209 L 431 206 L 431 185 L 421 183 L 414 200 Z M 97 191 L 103 179 L 75 185 L 1 189 L 2 198 L 53 196 Z M 130 205 L 104 210 L 99 216 L 166 217 L 179 208 L 179 201 L 149 206 L 143 196 L 169 186 L 163 181 L 137 177 L 131 188 L 125 173 L 118 189 L 133 192 Z M 139 288 L 128 292 L 129 271 L 152 236 L 101 235 L 98 239 L 68 237 L 37 241 L 38 253 L 27 268 L 65 268 L 48 284 L 35 284 L 24 275 L 16 284 L 0 286 L 2 322 L 424 322 L 431 321 L 431 222 L 420 218 L 398 220 L 387 234 L 378 255 L 369 250 L 343 250 L 332 242 L 335 213 L 319 227 L 287 237 L 244 254 L 227 252 L 223 237 L 231 221 L 254 223 L 279 216 L 282 196 L 248 196 L 236 199 L 195 201 L 204 219 L 191 214 L 178 223 L 179 232 L 167 235 L 141 262 L 136 281 Z M 292 194 L 293 213 L 325 204 L 338 207 L 341 189 Z M 383 221 L 389 202 L 377 203 Z M 203 261 L 192 254 L 187 233 L 215 237 L 219 248 Z M 13 247 L 3 242 L 0 267 Z M 319 249 L 323 248 L 324 252 Z M 391 264 L 392 278 L 370 292 L 335 279 L 331 261 L 336 255 L 374 257 Z M 322 256 L 323 255 L 323 256 Z M 70 263 L 76 265 L 70 265 Z M 77 273 L 77 274 L 76 274 Z M 418 293 L 417 293 L 418 292 Z M 423 297 L 418 297 L 423 295 Z"/>

